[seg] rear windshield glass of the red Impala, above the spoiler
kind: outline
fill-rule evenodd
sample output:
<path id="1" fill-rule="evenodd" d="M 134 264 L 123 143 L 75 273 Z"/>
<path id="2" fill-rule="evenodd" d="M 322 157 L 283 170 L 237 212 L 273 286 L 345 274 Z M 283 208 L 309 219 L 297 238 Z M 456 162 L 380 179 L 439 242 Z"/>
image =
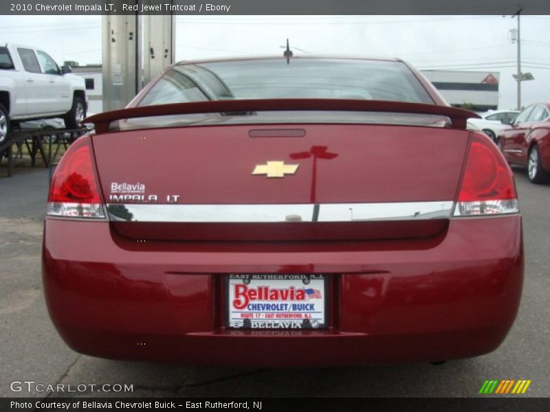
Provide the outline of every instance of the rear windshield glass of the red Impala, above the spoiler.
<path id="1" fill-rule="evenodd" d="M 181 64 L 138 106 L 227 99 L 357 99 L 434 101 L 402 62 L 284 58 Z"/>

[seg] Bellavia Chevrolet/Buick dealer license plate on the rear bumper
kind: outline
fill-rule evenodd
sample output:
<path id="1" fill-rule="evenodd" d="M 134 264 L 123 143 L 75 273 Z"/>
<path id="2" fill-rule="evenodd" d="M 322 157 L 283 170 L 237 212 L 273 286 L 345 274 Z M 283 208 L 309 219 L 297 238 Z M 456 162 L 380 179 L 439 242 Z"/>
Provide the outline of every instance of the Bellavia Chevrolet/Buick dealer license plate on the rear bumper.
<path id="1" fill-rule="evenodd" d="M 229 275 L 228 328 L 327 328 L 326 275 Z"/>

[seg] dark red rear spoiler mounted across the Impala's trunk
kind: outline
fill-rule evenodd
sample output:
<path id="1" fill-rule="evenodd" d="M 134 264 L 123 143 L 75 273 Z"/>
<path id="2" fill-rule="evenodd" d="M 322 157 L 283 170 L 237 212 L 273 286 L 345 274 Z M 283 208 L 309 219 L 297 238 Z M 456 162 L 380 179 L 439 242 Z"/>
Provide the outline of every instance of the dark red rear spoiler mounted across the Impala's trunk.
<path id="1" fill-rule="evenodd" d="M 343 100 L 343 99 L 258 99 L 258 100 L 212 100 L 209 102 L 191 102 L 175 104 L 157 104 L 122 108 L 100 113 L 85 119 L 94 123 L 96 133 L 105 133 L 111 122 L 136 117 L 154 117 L 167 115 L 189 115 L 197 113 L 227 113 L 254 111 L 366 111 L 410 113 L 419 115 L 441 115 L 449 117 L 453 128 L 465 129 L 466 119 L 479 117 L 476 113 L 463 108 L 438 106 L 386 100 Z"/>

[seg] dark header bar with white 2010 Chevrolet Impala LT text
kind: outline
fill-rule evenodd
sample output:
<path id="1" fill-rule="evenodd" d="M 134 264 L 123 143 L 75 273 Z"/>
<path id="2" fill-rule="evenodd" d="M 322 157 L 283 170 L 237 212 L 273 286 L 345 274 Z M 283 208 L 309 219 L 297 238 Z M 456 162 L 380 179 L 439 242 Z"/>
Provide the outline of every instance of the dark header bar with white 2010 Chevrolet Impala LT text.
<path id="1" fill-rule="evenodd" d="M 549 0 L 7 0 L 0 14 L 550 14 Z"/>

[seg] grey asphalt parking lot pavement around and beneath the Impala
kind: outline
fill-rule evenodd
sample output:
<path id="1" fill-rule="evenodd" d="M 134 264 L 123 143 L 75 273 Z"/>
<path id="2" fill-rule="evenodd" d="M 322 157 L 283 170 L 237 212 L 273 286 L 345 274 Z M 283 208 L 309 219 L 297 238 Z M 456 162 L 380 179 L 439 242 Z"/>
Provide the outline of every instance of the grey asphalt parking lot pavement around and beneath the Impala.
<path id="1" fill-rule="evenodd" d="M 4 171 L 4 170 L 2 170 Z M 42 293 L 40 255 L 47 170 L 0 178 L 0 396 L 73 396 L 10 389 L 126 384 L 131 393 L 83 396 L 478 396 L 486 379 L 530 379 L 525 396 L 550 395 L 550 185 L 514 170 L 525 236 L 525 284 L 518 319 L 496 352 L 439 366 L 239 369 L 109 361 L 77 354 L 58 336 Z M 227 348 L 231 350 L 230 347 Z"/>

